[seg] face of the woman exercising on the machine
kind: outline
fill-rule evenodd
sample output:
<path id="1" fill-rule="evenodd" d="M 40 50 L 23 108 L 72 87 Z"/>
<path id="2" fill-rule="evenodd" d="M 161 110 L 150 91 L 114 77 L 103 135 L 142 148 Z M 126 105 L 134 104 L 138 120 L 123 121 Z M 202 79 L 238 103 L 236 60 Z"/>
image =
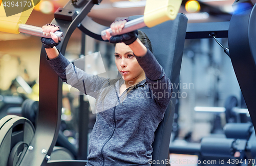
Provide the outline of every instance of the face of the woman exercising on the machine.
<path id="1" fill-rule="evenodd" d="M 124 43 L 116 44 L 115 62 L 118 71 L 125 81 L 141 81 L 145 79 L 145 73 L 140 67 L 136 57 L 134 57 L 132 49 Z"/>

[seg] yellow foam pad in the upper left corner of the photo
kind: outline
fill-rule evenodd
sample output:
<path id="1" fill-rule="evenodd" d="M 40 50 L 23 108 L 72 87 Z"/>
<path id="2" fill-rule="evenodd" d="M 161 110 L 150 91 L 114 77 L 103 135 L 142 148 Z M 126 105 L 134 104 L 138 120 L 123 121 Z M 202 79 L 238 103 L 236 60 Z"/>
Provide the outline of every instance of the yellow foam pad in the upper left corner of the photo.
<path id="1" fill-rule="evenodd" d="M 2 2 L 2 0 L 0 1 Z M 32 5 L 33 5 L 32 8 L 24 12 L 7 17 L 5 13 L 4 5 L 2 3 L 0 6 L 0 31 L 12 33 L 12 34 L 18 34 L 19 24 L 20 23 L 25 24 L 34 9 L 33 1 L 32 1 Z"/>

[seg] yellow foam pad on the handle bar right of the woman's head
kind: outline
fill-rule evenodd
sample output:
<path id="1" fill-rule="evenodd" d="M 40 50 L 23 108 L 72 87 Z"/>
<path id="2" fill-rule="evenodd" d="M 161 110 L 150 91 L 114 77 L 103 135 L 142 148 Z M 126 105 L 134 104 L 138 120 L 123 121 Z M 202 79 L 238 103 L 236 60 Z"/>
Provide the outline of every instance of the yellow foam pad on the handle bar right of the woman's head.
<path id="1" fill-rule="evenodd" d="M 144 23 L 153 27 L 168 20 L 174 20 L 179 12 L 182 0 L 147 0 L 144 11 Z"/>

